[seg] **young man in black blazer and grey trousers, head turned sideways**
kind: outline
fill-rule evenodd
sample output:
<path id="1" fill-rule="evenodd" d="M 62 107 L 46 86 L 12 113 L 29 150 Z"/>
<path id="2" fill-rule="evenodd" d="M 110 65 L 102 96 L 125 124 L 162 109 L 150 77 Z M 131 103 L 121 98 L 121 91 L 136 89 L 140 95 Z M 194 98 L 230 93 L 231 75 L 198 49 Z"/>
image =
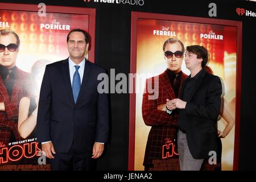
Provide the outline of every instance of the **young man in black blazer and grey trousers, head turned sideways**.
<path id="1" fill-rule="evenodd" d="M 180 109 L 177 144 L 180 169 L 185 171 L 200 170 L 204 159 L 217 153 L 222 86 L 219 77 L 203 69 L 207 61 L 207 49 L 188 46 L 185 64 L 191 75 L 183 82 L 180 99 L 167 100 L 168 109 Z"/>

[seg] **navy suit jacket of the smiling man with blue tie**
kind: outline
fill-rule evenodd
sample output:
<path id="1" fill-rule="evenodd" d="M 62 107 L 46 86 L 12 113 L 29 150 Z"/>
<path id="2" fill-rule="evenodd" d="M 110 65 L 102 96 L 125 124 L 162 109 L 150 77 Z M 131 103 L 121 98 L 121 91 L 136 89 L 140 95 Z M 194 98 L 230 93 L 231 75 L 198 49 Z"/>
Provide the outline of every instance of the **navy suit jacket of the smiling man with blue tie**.
<path id="1" fill-rule="evenodd" d="M 108 93 L 98 93 L 97 80 L 105 69 L 85 61 L 84 77 L 75 104 L 68 59 L 46 66 L 42 81 L 37 137 L 51 140 L 56 152 L 90 152 L 94 142 L 106 143 L 109 131 Z"/>

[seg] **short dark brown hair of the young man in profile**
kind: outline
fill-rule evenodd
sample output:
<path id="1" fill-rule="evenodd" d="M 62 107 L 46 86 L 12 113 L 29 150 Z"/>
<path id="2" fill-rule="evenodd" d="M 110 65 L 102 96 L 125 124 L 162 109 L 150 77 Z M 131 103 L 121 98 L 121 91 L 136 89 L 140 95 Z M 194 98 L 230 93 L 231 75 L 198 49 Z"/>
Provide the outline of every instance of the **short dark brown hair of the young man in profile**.
<path id="1" fill-rule="evenodd" d="M 197 59 L 203 59 L 203 61 L 201 63 L 202 68 L 204 68 L 205 65 L 207 65 L 208 51 L 206 48 L 204 48 L 203 46 L 193 45 L 193 46 L 188 46 L 186 51 L 195 53 Z"/>

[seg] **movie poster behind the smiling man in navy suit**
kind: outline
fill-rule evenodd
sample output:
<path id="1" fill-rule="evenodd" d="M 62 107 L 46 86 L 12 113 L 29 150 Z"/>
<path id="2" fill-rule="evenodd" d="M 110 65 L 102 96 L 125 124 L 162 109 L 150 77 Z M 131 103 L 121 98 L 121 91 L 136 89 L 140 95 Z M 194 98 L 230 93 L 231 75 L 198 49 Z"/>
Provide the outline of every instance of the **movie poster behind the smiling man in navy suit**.
<path id="1" fill-rule="evenodd" d="M 23 7 L 26 9 L 26 5 Z M 51 9 L 58 12 L 59 8 Z M 89 18 L 86 11 L 39 16 L 37 11 L 0 9 L 0 30 L 12 30 L 20 39 L 16 49 L 9 44 L 11 40 L 0 39 L 4 45 L 0 50 L 0 57 L 4 57 L 0 65 L 0 102 L 5 103 L 5 110 L 0 111 L 0 170 L 49 170 L 50 164 L 41 158 L 41 146 L 36 141 L 40 84 L 47 64 L 67 59 L 68 32 L 73 28 L 89 31 Z M 9 74 L 5 73 L 8 59 L 13 59 L 15 65 Z M 13 77 L 9 76 L 12 72 Z"/>

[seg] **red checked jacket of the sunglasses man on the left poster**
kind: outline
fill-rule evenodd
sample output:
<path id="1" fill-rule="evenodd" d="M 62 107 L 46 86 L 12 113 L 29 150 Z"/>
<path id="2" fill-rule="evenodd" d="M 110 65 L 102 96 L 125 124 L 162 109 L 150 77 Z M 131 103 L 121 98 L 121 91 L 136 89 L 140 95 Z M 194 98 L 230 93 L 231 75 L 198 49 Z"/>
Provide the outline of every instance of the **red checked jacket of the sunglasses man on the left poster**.
<path id="1" fill-rule="evenodd" d="M 11 131 L 14 132 L 15 139 L 20 140 L 18 132 L 19 102 L 22 97 L 27 97 L 28 73 L 16 69 L 11 98 L 6 90 L 6 86 L 0 76 L 0 102 L 5 103 L 5 111 L 0 111 L 0 141 L 6 146 L 10 140 Z"/>

